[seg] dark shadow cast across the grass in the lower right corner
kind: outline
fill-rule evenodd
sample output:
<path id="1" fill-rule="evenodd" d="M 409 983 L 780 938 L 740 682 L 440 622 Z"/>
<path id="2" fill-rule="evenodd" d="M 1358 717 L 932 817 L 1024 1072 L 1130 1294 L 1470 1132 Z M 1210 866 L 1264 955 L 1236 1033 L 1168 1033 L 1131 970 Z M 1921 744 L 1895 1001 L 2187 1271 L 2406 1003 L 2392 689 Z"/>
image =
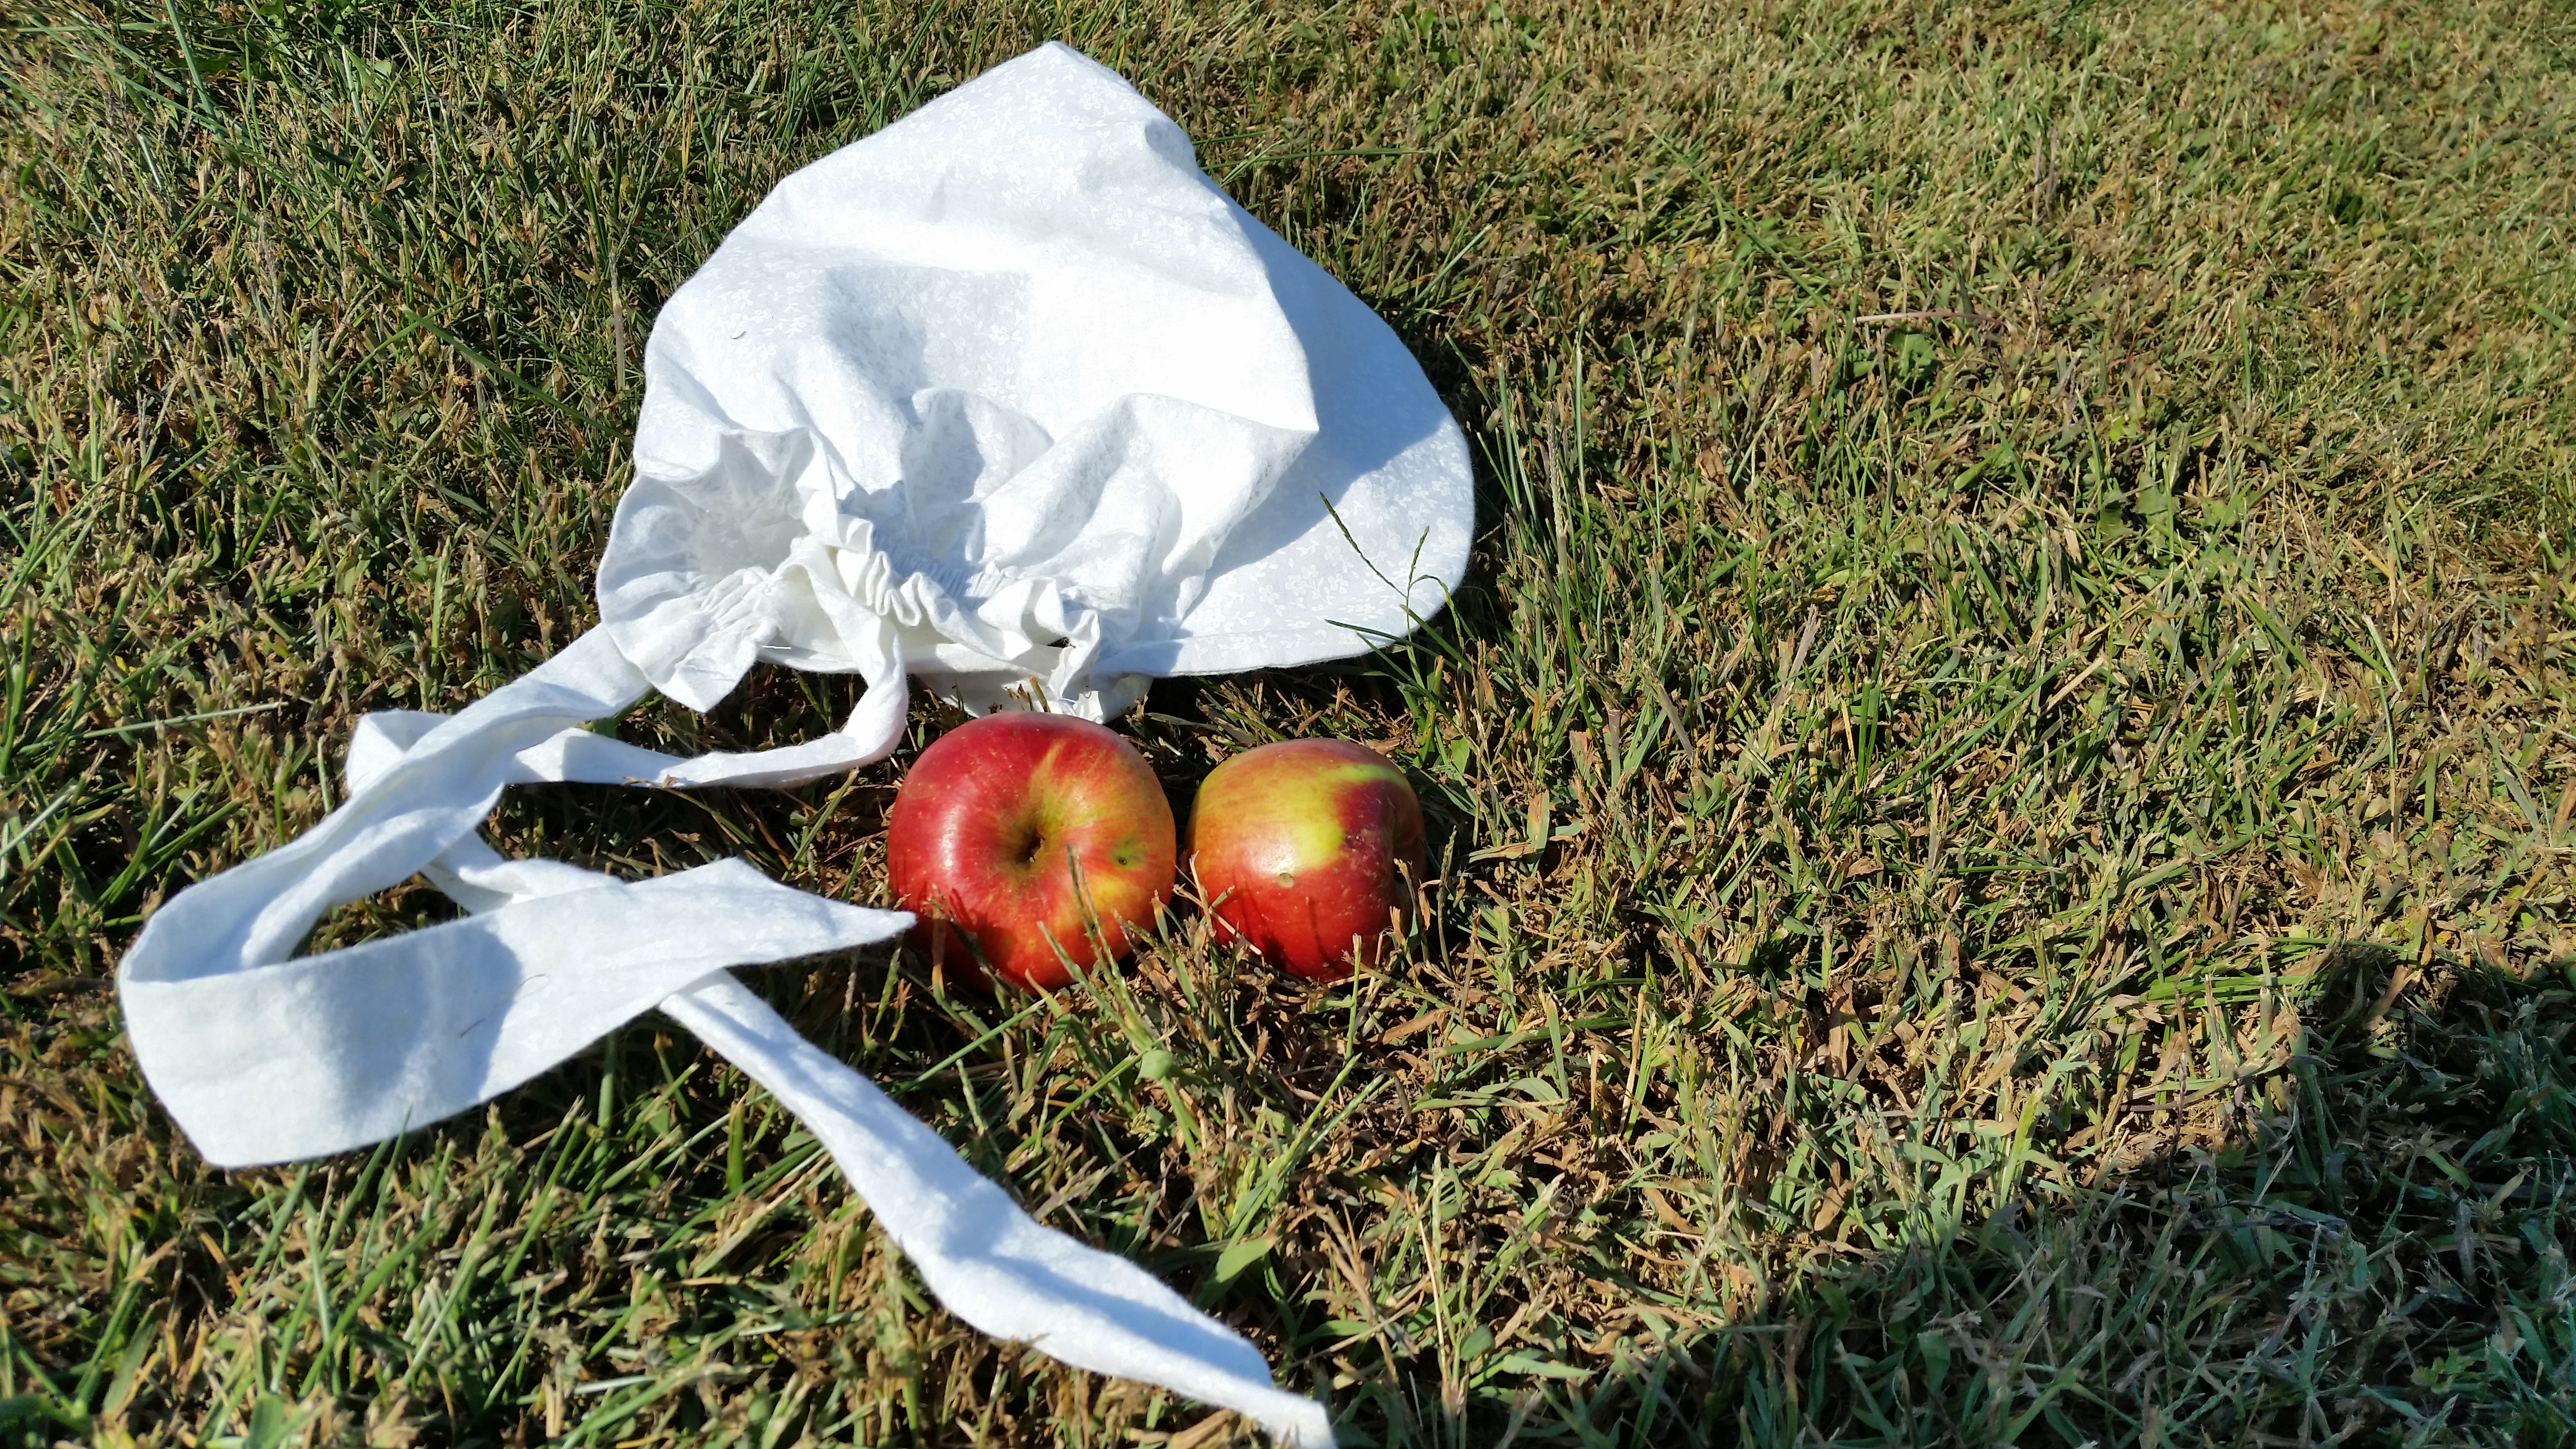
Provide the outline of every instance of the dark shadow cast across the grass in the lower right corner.
<path id="1" fill-rule="evenodd" d="M 2571 982 L 2331 949 L 2218 1147 L 1816 1253 L 1731 1323 L 1641 1315 L 1592 1372 L 1492 1351 L 1422 1403 L 1443 1369 L 1391 1359 L 1345 1441 L 2576 1441 Z"/>

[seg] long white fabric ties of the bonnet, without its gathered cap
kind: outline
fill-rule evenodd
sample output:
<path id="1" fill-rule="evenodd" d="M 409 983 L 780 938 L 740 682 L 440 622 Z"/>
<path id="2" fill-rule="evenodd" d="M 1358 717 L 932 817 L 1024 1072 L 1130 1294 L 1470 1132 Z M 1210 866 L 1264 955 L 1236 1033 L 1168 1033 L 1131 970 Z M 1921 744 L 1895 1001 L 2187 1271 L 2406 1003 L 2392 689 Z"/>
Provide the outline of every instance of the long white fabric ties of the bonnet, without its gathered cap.
<path id="1" fill-rule="evenodd" d="M 649 882 L 510 861 L 477 833 L 510 784 L 786 784 L 891 753 L 904 676 L 853 727 L 680 761 L 585 730 L 644 676 L 592 632 L 461 714 L 368 714 L 348 802 L 299 841 L 170 897 L 118 969 L 134 1057 L 222 1168 L 345 1152 L 479 1106 L 659 1008 L 832 1152 L 940 1302 L 1066 1364 L 1332 1444 L 1260 1351 L 1126 1258 L 1041 1227 L 873 1083 L 801 1039 L 726 967 L 842 951 L 912 918 L 788 890 L 742 861 Z M 858 732 L 866 727 L 866 732 Z M 425 874 L 471 915 L 291 957 L 332 905 Z"/>

